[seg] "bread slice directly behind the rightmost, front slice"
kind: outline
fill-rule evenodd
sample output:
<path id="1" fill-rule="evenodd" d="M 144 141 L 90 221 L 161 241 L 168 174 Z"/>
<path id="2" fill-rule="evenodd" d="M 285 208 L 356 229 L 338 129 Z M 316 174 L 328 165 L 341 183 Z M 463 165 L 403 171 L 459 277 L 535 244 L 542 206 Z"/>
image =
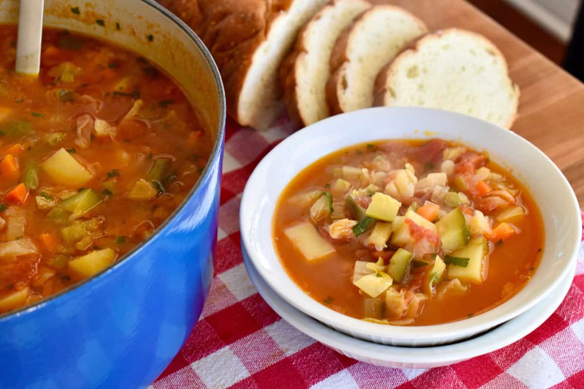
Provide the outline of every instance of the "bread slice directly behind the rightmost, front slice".
<path id="1" fill-rule="evenodd" d="M 422 20 L 396 6 L 377 5 L 357 17 L 331 54 L 331 77 L 326 84 L 331 113 L 371 107 L 381 68 L 426 31 Z"/>

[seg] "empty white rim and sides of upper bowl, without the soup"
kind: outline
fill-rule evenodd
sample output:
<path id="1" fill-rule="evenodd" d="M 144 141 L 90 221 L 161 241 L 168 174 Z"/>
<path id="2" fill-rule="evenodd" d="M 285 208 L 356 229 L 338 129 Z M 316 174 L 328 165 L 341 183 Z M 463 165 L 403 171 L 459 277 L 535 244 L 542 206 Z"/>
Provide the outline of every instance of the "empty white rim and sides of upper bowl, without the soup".
<path id="1" fill-rule="evenodd" d="M 544 252 L 533 278 L 507 302 L 447 324 L 398 327 L 367 323 L 318 303 L 288 276 L 272 241 L 272 216 L 286 185 L 319 158 L 356 143 L 442 138 L 486 150 L 529 188 L 540 207 Z M 460 341 L 524 313 L 571 271 L 582 225 L 576 196 L 557 166 L 519 135 L 466 115 L 429 108 L 369 108 L 310 125 L 277 145 L 253 171 L 240 211 L 242 246 L 272 289 L 308 316 L 353 337 L 386 345 L 431 346 Z"/>

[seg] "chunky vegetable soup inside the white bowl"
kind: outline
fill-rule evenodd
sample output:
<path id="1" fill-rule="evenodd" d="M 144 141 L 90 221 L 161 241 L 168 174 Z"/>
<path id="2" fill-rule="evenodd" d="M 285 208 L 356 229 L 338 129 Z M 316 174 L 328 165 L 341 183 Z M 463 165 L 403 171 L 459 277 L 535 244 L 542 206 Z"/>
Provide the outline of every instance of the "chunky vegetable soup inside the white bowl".
<path id="1" fill-rule="evenodd" d="M 281 194 L 274 246 L 308 295 L 374 323 L 431 325 L 492 309 L 535 271 L 529 192 L 456 142 L 381 141 L 328 155 Z"/>

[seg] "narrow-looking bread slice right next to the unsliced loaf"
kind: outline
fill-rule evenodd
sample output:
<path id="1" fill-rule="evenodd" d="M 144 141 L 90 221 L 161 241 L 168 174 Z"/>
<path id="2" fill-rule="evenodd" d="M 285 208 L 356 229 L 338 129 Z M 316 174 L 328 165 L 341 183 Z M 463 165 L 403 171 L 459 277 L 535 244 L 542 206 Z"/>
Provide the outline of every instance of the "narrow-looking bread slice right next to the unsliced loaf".
<path id="1" fill-rule="evenodd" d="M 280 82 L 290 117 L 301 126 L 328 117 L 326 81 L 329 59 L 340 33 L 371 5 L 365 0 L 333 0 L 298 34 L 295 49 L 280 68 Z"/>

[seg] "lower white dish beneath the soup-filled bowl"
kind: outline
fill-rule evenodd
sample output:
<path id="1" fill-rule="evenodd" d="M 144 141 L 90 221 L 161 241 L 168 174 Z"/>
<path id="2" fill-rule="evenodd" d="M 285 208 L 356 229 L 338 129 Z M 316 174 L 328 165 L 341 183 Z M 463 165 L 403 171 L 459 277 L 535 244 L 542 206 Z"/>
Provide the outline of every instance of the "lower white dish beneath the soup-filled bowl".
<path id="1" fill-rule="evenodd" d="M 259 294 L 277 314 L 297 330 L 350 358 L 373 365 L 400 369 L 430 369 L 451 365 L 518 341 L 543 324 L 554 313 L 568 293 L 576 270 L 576 265 L 573 264 L 565 278 L 540 303 L 485 334 L 444 346 L 397 347 L 352 338 L 314 320 L 281 299 L 258 274 L 245 251 L 244 262 L 249 278 Z"/>

